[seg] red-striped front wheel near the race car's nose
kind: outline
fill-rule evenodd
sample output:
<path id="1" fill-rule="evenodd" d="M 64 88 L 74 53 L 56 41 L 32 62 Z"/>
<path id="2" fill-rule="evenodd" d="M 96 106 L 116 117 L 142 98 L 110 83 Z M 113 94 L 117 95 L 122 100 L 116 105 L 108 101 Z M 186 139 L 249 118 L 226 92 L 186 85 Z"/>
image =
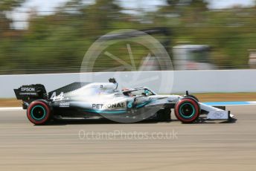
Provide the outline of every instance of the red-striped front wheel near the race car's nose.
<path id="1" fill-rule="evenodd" d="M 182 123 L 193 123 L 200 115 L 199 104 L 191 97 L 182 98 L 176 103 L 175 115 Z"/>

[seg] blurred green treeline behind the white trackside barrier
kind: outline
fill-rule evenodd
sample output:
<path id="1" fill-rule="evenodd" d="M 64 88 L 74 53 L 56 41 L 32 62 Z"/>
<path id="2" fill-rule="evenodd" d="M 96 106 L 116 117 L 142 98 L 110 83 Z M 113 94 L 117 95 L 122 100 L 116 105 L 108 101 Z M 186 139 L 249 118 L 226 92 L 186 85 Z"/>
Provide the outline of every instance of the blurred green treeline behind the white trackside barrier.
<path id="1" fill-rule="evenodd" d="M 4 74 L 77 72 L 83 55 L 98 36 L 122 28 L 170 28 L 172 35 L 167 39 L 172 42 L 214 47 L 213 62 L 220 68 L 246 68 L 247 50 L 256 47 L 256 6 L 210 10 L 203 0 L 166 0 L 167 5 L 158 11 L 138 9 L 136 12 L 143 14 L 137 15 L 124 13 L 118 0 L 91 4 L 69 0 L 48 15 L 31 10 L 27 30 L 10 28 L 12 19 L 6 14 L 23 1 L 0 1 L 0 68 Z M 118 57 L 128 59 L 122 54 L 127 52 L 124 45 L 111 48 Z M 139 60 L 145 51 L 132 48 Z M 112 67 L 112 62 L 102 60 L 98 67 Z"/>

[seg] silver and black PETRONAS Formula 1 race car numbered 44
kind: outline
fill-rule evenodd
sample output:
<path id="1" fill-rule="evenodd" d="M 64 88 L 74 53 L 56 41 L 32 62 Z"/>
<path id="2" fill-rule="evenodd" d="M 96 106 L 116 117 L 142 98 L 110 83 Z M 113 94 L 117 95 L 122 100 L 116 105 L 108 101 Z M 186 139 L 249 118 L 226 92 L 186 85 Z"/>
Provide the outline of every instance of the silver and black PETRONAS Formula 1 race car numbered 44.
<path id="1" fill-rule="evenodd" d="M 120 90 L 114 78 L 109 83 L 71 83 L 47 93 L 41 84 L 14 89 L 31 123 L 50 120 L 107 118 L 121 123 L 147 119 L 170 120 L 171 109 L 182 123 L 196 120 L 230 120 L 225 106 L 207 106 L 193 95 L 158 95 L 147 87 Z"/>

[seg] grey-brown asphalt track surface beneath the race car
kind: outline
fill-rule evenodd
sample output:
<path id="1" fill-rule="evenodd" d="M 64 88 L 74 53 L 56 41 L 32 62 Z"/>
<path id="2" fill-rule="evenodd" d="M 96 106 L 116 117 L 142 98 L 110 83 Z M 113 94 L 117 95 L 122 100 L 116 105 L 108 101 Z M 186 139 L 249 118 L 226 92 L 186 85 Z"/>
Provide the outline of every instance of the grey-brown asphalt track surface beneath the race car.
<path id="1" fill-rule="evenodd" d="M 33 126 L 1 111 L 0 170 L 256 170 L 256 106 L 228 109 L 236 123 Z"/>

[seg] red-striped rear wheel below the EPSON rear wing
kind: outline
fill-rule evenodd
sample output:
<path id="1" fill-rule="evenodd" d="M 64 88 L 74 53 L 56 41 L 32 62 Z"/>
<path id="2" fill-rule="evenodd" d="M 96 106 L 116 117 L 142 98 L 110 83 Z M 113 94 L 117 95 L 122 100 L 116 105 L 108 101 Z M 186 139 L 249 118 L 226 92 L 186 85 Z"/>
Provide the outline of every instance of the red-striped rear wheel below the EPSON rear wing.
<path id="1" fill-rule="evenodd" d="M 27 117 L 35 125 L 44 125 L 51 119 L 51 109 L 44 100 L 35 100 L 27 110 Z"/>

